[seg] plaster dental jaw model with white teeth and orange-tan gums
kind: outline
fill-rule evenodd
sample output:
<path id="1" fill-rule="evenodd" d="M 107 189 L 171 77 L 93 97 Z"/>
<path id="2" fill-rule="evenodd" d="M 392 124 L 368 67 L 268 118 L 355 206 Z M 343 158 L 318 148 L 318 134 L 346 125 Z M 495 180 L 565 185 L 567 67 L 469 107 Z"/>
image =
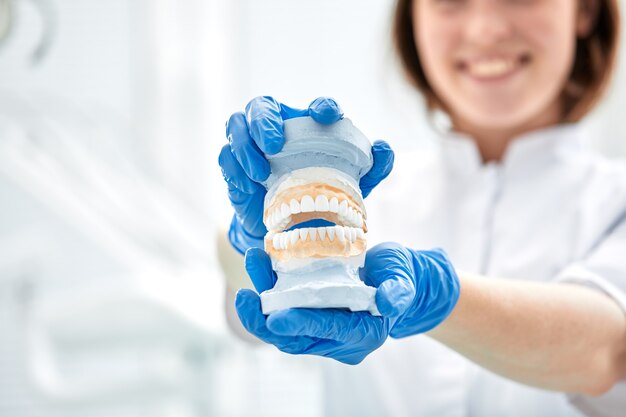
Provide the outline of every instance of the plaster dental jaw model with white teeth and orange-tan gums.
<path id="1" fill-rule="evenodd" d="M 372 166 L 369 140 L 348 119 L 328 126 L 290 119 L 284 134 L 283 150 L 266 155 L 272 173 L 265 184 L 265 250 L 278 280 L 261 294 L 263 313 L 309 307 L 378 315 L 376 289 L 358 275 L 367 247 L 358 184 Z M 312 220 L 324 222 L 304 227 Z"/>

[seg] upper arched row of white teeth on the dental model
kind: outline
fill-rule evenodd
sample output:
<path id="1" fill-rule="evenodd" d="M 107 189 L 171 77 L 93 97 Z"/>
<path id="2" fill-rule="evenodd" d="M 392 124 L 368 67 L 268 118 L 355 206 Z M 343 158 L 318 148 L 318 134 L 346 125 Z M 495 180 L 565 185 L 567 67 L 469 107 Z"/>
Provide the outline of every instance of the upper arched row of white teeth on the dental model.
<path id="1" fill-rule="evenodd" d="M 265 225 L 268 230 L 283 230 L 290 224 L 293 214 L 312 212 L 335 213 L 340 223 L 350 227 L 363 227 L 365 224 L 363 215 L 350 207 L 348 200 L 339 202 L 337 197 L 329 200 L 325 195 L 318 195 L 313 199 L 310 195 L 305 195 L 299 202 L 291 199 L 289 204 L 282 203 L 280 207 L 273 209 L 266 216 Z"/>

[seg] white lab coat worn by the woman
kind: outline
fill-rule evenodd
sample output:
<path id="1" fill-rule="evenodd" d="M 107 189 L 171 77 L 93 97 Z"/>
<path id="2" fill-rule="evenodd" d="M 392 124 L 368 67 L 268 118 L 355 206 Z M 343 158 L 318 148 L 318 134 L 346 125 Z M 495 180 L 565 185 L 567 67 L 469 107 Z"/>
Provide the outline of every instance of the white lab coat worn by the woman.
<path id="1" fill-rule="evenodd" d="M 443 136 L 433 152 L 398 154 L 368 198 L 370 246 L 441 247 L 459 270 L 576 281 L 626 311 L 626 163 L 594 154 L 579 125 L 524 135 L 501 163 Z M 597 398 L 544 391 L 423 335 L 389 339 L 359 366 L 329 362 L 329 416 L 626 416 L 626 381 Z"/>

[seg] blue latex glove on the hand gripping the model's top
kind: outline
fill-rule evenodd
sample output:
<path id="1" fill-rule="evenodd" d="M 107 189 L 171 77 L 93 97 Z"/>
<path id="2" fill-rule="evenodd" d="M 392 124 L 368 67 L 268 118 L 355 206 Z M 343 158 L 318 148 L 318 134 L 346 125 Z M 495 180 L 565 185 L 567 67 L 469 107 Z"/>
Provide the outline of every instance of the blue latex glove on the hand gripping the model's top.
<path id="1" fill-rule="evenodd" d="M 272 97 L 257 97 L 246 106 L 245 112 L 233 114 L 226 124 L 228 144 L 219 156 L 228 197 L 235 209 L 228 237 L 239 252 L 250 247 L 263 247 L 267 233 L 263 225 L 263 200 L 266 190 L 260 182 L 270 175 L 270 165 L 264 153 L 273 155 L 283 148 L 283 121 L 294 117 L 311 116 L 322 124 L 341 120 L 343 111 L 332 98 L 320 97 L 306 110 L 298 110 L 279 103 Z M 384 141 L 372 146 L 374 164 L 361 178 L 360 186 L 366 197 L 393 167 L 393 151 Z"/>

